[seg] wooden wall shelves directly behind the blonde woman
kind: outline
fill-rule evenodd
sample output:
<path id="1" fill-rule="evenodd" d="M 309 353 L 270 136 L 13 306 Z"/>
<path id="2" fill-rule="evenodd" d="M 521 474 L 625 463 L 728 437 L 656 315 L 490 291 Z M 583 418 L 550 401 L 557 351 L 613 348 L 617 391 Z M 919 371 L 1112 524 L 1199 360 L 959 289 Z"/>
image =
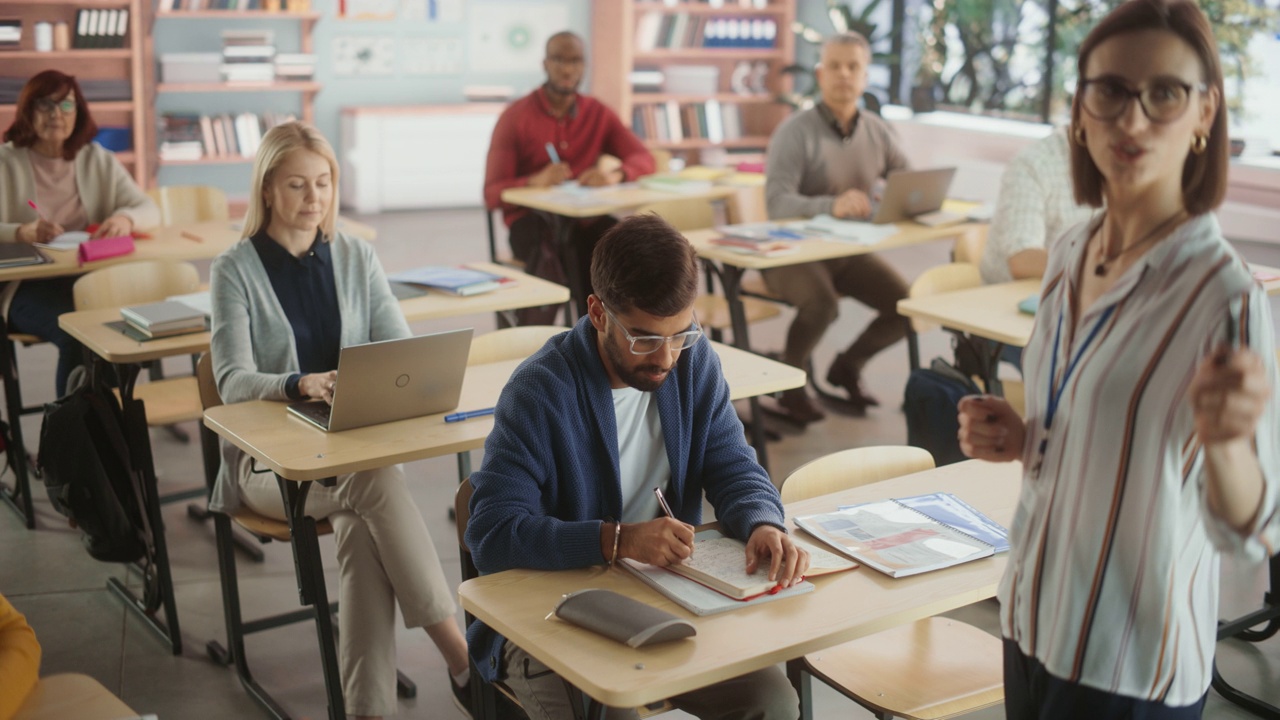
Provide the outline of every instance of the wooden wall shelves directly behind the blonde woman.
<path id="1" fill-rule="evenodd" d="M 297 23 L 298 24 L 298 47 L 292 53 L 312 54 L 315 53 L 315 45 L 312 35 L 315 31 L 315 24 L 320 20 L 321 13 L 312 12 L 307 5 L 310 3 L 291 3 L 289 6 L 294 9 L 216 9 L 216 8 L 201 8 L 201 9 L 180 9 L 170 8 L 172 5 L 182 5 L 179 0 L 174 3 L 173 0 L 160 0 L 161 9 L 156 12 L 156 20 L 163 22 L 198 22 L 207 24 L 224 24 L 234 20 L 241 20 L 238 27 L 243 27 L 243 20 L 268 20 L 278 23 Z M 200 4 L 206 4 L 201 0 Z M 209 4 L 218 4 L 218 0 L 209 1 Z M 268 3 L 269 4 L 269 3 Z M 300 9 L 301 8 L 301 9 Z M 210 29 L 211 35 L 216 35 L 221 28 Z M 279 49 L 279 40 L 275 41 L 276 51 Z M 159 58 L 157 58 L 159 60 Z M 178 96 L 178 95 L 206 95 L 206 94 L 246 94 L 243 102 L 237 100 L 236 110 L 238 111 L 252 111 L 253 101 L 251 100 L 255 94 L 297 94 L 298 96 L 298 117 L 307 123 L 315 123 L 315 96 L 324 87 L 321 83 L 307 79 L 307 81 L 282 81 L 275 79 L 273 82 L 161 82 L 155 85 L 157 96 Z M 238 113 L 232 113 L 238 114 Z M 256 114 L 256 113 L 255 113 Z M 168 167 L 200 167 L 200 165 L 234 165 L 234 164 L 248 164 L 253 161 L 251 155 L 207 155 L 201 159 L 173 159 L 161 158 L 159 155 L 160 141 L 160 114 L 152 109 L 151 126 L 156 128 L 156 141 L 151 143 L 148 151 L 155 156 L 155 164 L 157 168 Z"/>

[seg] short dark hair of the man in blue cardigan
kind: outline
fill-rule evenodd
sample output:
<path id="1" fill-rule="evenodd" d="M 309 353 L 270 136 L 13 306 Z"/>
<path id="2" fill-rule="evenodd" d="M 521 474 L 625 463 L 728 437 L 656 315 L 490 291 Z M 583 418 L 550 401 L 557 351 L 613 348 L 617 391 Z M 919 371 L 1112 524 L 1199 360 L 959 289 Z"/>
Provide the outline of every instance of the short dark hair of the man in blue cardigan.
<path id="1" fill-rule="evenodd" d="M 631 215 L 596 243 L 591 287 L 614 313 L 635 309 L 671 318 L 698 299 L 698 254 L 667 220 Z"/>

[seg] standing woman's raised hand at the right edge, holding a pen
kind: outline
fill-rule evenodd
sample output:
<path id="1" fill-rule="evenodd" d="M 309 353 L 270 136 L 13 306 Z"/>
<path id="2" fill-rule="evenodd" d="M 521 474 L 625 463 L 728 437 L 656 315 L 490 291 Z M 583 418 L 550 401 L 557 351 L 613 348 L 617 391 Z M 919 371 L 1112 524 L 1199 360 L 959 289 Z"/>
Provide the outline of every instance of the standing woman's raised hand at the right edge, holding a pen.
<path id="1" fill-rule="evenodd" d="M 1262 357 L 1221 348 L 1201 363 L 1188 391 L 1196 433 L 1204 445 L 1252 437 L 1271 398 Z"/>

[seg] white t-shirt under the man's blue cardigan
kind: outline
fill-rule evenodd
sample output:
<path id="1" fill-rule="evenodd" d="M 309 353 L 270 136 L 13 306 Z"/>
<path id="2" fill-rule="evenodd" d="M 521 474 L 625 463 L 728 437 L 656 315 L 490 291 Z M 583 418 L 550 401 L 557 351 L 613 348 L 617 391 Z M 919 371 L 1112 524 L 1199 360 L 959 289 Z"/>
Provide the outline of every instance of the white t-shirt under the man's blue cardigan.
<path id="1" fill-rule="evenodd" d="M 622 479 L 622 521 L 644 523 L 662 515 L 653 488 L 667 492 L 671 462 L 662 442 L 662 418 L 652 392 L 632 387 L 613 391 L 618 425 L 618 474 Z"/>

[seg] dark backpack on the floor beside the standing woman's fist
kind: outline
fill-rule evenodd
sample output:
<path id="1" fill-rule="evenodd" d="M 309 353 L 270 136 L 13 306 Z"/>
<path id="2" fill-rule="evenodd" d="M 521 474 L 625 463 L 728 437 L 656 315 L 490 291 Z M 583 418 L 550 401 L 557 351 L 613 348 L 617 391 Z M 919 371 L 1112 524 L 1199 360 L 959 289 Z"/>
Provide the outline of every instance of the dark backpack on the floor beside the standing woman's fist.
<path id="1" fill-rule="evenodd" d="M 911 370 L 904 397 L 906 443 L 928 450 L 938 466 L 965 460 L 956 438 L 956 407 L 960 398 L 979 392 L 973 380 L 941 357 L 927 369 Z"/>

